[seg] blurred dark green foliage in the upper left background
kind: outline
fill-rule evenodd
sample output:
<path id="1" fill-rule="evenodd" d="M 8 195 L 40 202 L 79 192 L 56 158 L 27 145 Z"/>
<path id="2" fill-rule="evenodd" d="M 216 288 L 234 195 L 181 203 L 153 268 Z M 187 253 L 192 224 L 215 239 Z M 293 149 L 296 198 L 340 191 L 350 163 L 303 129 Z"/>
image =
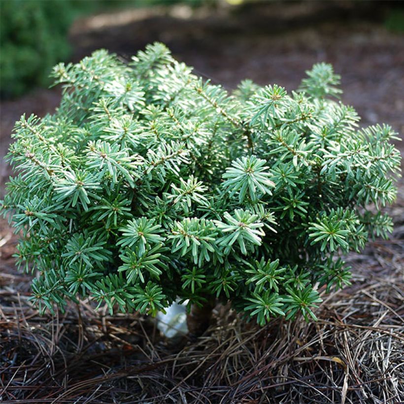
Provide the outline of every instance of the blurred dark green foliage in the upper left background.
<path id="1" fill-rule="evenodd" d="M 75 18 L 127 7 L 175 4 L 164 0 L 0 0 L 0 96 L 47 86 L 50 69 L 72 50 L 69 27 Z M 202 0 L 186 1 L 198 6 Z"/>

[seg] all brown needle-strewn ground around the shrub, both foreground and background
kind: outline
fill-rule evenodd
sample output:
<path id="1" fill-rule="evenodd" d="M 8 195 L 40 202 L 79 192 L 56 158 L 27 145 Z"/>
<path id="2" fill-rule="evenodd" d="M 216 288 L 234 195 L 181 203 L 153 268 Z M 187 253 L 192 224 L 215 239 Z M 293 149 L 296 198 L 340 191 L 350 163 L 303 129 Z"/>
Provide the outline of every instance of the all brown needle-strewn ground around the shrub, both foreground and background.
<path id="1" fill-rule="evenodd" d="M 190 15 L 186 7 L 98 16 L 73 27 L 74 59 L 101 46 L 131 55 L 160 40 L 197 73 L 227 88 L 249 77 L 288 90 L 313 63 L 327 61 L 342 75 L 342 100 L 356 107 L 364 125 L 387 122 L 404 134 L 403 36 L 346 9 L 318 20 L 325 8 L 313 3 L 311 14 L 295 4 L 283 8 L 281 22 L 276 9 L 264 7 L 231 17 L 222 9 L 209 18 L 204 10 Z M 51 112 L 59 97 L 58 89 L 39 90 L 2 102 L 1 155 L 14 121 L 23 112 Z M 403 150 L 403 143 L 398 146 Z M 8 168 L 1 162 L 0 169 L 2 185 Z M 404 402 L 403 185 L 390 208 L 392 239 L 349 256 L 353 285 L 325 297 L 318 323 L 276 320 L 259 329 L 217 307 L 198 341 L 169 343 L 148 319 L 110 317 L 86 302 L 80 311 L 71 305 L 66 314 L 39 317 L 28 302 L 30 276 L 17 273 L 11 257 L 15 236 L 1 221 L 0 400 Z"/>

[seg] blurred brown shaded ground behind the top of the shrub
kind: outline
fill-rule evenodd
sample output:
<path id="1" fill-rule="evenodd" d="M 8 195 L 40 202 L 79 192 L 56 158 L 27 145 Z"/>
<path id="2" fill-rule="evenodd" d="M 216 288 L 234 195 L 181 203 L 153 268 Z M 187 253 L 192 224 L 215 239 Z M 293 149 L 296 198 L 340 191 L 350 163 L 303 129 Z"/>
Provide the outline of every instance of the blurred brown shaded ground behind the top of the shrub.
<path id="1" fill-rule="evenodd" d="M 250 78 L 294 90 L 306 69 L 329 62 L 342 76 L 342 100 L 357 108 L 364 125 L 386 121 L 404 133 L 404 35 L 358 19 L 361 10 L 313 3 L 263 4 L 230 16 L 218 10 L 185 18 L 179 8 L 137 20 L 134 12 L 132 22 L 128 16 L 126 24 L 109 27 L 103 24 L 117 17 L 101 15 L 77 22 L 71 40 L 75 59 L 99 47 L 129 58 L 147 43 L 162 41 L 177 59 L 229 89 Z"/>

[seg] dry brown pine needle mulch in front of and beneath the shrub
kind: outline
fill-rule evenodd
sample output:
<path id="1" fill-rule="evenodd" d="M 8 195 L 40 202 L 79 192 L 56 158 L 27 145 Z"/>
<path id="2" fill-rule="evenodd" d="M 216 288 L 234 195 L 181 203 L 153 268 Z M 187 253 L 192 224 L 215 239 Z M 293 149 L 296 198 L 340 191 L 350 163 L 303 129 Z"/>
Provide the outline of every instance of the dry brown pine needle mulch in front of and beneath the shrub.
<path id="1" fill-rule="evenodd" d="M 349 255 L 352 286 L 324 296 L 317 323 L 260 329 L 217 306 L 202 337 L 176 341 L 87 302 L 40 317 L 1 222 L 0 402 L 404 402 L 404 203 L 392 214 L 393 237 Z"/>

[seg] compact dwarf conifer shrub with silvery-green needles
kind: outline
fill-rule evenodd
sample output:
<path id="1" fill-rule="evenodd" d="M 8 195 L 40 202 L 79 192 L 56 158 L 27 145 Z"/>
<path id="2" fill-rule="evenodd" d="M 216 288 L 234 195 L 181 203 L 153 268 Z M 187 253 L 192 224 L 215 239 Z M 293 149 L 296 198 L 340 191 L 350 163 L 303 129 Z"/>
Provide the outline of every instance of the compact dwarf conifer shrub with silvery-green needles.
<path id="1" fill-rule="evenodd" d="M 160 43 L 56 66 L 60 107 L 16 123 L 2 206 L 34 302 L 155 314 L 213 297 L 261 325 L 315 318 L 319 291 L 349 283 L 343 254 L 392 231 L 369 205 L 394 201 L 400 155 L 389 126 L 358 130 L 334 100 L 330 65 L 307 74 L 231 95 Z"/>

